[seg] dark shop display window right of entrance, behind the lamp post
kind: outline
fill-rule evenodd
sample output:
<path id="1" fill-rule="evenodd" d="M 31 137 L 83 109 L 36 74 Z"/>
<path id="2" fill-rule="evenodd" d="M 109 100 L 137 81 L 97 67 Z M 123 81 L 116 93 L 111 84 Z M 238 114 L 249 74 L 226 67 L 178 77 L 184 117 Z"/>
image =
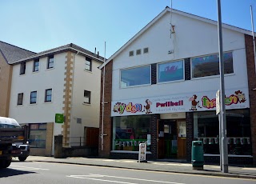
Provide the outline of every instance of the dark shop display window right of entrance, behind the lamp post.
<path id="1" fill-rule="evenodd" d="M 219 154 L 219 122 L 215 111 L 194 113 L 194 139 L 203 142 L 205 154 Z M 228 154 L 251 155 L 250 114 L 246 110 L 226 110 Z"/>

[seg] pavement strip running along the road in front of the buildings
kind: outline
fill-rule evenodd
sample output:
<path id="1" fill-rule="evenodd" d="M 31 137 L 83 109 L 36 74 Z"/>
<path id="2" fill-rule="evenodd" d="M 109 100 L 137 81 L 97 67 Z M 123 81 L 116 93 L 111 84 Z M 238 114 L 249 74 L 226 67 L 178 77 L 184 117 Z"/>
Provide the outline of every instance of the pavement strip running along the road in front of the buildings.
<path id="1" fill-rule="evenodd" d="M 18 158 L 13 158 L 18 162 Z M 154 170 L 159 172 L 199 174 L 229 178 L 250 178 L 256 180 L 256 167 L 253 166 L 228 166 L 228 173 L 222 173 L 218 165 L 204 165 L 203 170 L 194 170 L 191 163 L 174 160 L 155 160 L 138 162 L 132 159 L 109 159 L 109 158 L 54 158 L 42 156 L 29 156 L 25 162 L 56 162 L 77 164 L 86 166 L 106 166 L 133 170 Z"/>

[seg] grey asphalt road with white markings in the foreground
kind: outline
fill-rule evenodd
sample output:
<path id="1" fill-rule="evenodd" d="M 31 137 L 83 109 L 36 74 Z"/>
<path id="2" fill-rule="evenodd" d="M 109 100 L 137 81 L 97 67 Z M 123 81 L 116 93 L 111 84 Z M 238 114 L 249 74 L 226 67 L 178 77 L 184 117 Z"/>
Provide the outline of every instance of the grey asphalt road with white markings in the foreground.
<path id="1" fill-rule="evenodd" d="M 84 166 L 49 162 L 12 162 L 0 170 L 1 184 L 249 184 L 256 180 L 214 176 L 174 174 L 146 170 L 127 170 L 99 166 Z"/>

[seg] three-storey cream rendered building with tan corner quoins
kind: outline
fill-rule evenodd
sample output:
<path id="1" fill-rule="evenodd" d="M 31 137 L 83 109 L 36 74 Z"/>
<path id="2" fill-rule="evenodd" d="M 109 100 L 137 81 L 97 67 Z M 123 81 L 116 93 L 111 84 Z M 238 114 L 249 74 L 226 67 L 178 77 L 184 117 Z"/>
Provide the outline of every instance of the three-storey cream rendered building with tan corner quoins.
<path id="1" fill-rule="evenodd" d="M 102 62 L 70 43 L 13 63 L 10 117 L 29 126 L 31 154 L 54 155 L 54 135 L 76 146 L 86 141 L 86 127 L 98 128 Z"/>

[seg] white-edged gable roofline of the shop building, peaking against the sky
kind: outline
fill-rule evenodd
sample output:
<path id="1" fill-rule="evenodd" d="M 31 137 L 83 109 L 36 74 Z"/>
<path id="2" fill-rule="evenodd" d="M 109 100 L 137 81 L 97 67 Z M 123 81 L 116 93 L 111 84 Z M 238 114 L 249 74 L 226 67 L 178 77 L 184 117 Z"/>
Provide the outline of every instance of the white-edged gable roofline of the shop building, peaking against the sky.
<path id="1" fill-rule="evenodd" d="M 182 16 L 186 16 L 186 17 L 189 17 L 189 18 L 194 18 L 194 19 L 197 19 L 199 21 L 207 22 L 207 23 L 210 23 L 210 24 L 218 26 L 218 22 L 217 21 L 210 20 L 208 18 L 202 18 L 202 17 L 199 17 L 199 16 L 194 15 L 194 14 L 188 14 L 188 13 L 180 11 L 180 10 L 174 10 L 174 9 L 171 9 L 169 6 L 166 6 L 165 10 L 162 10 L 162 12 L 160 14 L 158 14 L 158 16 L 156 16 L 151 22 L 149 22 L 145 27 L 143 27 L 142 30 L 140 30 L 138 32 L 138 34 L 135 34 L 133 38 L 130 38 L 130 40 L 128 42 L 126 42 L 125 45 L 123 45 L 118 51 L 116 51 L 112 56 L 110 56 L 110 58 L 108 58 L 106 60 L 106 62 L 104 62 L 101 66 L 99 66 L 99 69 L 102 69 L 104 66 L 106 66 L 106 64 L 108 62 L 110 62 L 113 58 L 118 56 L 118 54 L 120 54 L 122 52 L 122 50 L 125 50 L 127 46 L 130 46 L 130 44 L 132 42 L 134 42 L 138 37 L 140 37 L 142 34 L 144 34 L 146 32 L 146 30 L 150 29 L 150 27 L 153 26 L 155 22 L 157 22 L 160 18 L 162 18 L 166 13 L 170 13 L 170 12 L 172 14 L 180 14 Z M 240 32 L 242 34 L 252 35 L 251 31 L 244 30 L 244 29 L 238 28 L 236 26 L 230 26 L 228 24 L 222 23 L 222 27 L 226 28 L 226 29 L 229 29 L 229 30 L 234 30 L 234 31 Z"/>

